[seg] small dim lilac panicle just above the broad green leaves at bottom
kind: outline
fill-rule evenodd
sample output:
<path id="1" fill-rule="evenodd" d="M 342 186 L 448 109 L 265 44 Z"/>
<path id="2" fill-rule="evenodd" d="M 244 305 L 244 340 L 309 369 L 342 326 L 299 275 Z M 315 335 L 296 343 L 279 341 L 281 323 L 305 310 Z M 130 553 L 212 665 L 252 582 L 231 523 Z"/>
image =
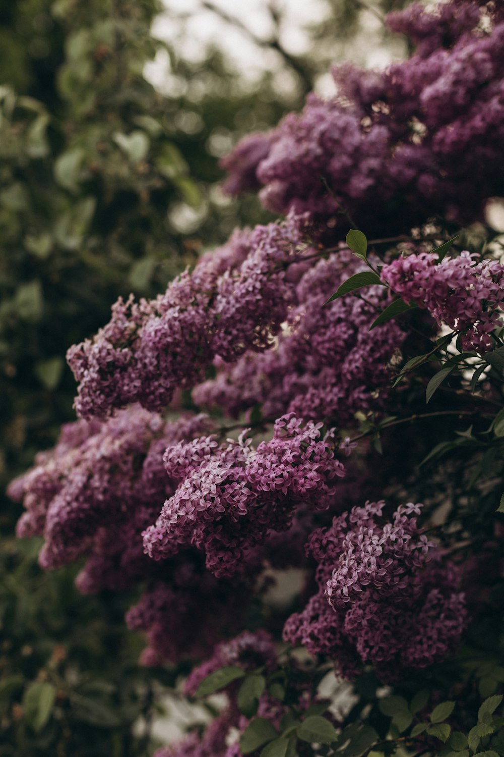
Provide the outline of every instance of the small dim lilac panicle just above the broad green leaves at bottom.
<path id="1" fill-rule="evenodd" d="M 271 670 L 275 667 L 276 661 L 275 645 L 267 631 L 243 631 L 236 638 L 218 644 L 206 662 L 193 668 L 184 684 L 184 691 L 189 696 L 194 696 L 199 684 L 207 676 L 226 665 L 237 665 L 246 671 L 253 671 L 265 665 Z"/>

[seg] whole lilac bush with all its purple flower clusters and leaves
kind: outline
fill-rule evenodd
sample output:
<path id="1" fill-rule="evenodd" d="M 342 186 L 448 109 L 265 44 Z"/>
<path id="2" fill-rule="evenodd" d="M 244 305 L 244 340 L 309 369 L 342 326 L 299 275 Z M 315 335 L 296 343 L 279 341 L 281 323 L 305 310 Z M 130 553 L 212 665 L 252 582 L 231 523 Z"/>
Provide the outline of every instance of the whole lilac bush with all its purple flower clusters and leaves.
<path id="1" fill-rule="evenodd" d="M 45 569 L 82 559 L 145 665 L 224 693 L 157 757 L 504 754 L 504 6 L 388 23 L 407 61 L 223 160 L 283 218 L 119 300 L 11 484 Z"/>

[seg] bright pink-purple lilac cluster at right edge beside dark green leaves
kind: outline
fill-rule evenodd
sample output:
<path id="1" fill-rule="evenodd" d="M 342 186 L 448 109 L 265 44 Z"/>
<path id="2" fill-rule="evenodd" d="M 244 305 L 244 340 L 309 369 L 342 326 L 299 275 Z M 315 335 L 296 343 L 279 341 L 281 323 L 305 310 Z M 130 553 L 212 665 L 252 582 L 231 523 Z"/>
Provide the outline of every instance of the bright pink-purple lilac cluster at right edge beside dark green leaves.
<path id="1" fill-rule="evenodd" d="M 462 335 L 462 349 L 483 354 L 493 347 L 490 333 L 502 326 L 504 266 L 497 260 L 475 263 L 476 254 L 462 252 L 438 264 L 437 253 L 399 257 L 383 266 L 382 279 L 405 302 L 426 308 L 441 326 Z"/>

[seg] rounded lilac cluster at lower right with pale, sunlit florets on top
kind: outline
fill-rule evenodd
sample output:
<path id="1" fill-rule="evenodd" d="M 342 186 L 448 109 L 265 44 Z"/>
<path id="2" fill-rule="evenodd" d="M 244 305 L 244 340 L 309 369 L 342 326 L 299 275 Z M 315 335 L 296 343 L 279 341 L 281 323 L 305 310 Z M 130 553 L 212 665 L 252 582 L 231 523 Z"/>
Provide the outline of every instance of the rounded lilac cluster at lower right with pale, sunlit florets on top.
<path id="1" fill-rule="evenodd" d="M 453 652 L 465 628 L 459 572 L 419 529 L 420 505 L 382 519 L 384 502 L 366 503 L 314 531 L 319 590 L 291 615 L 284 638 L 331 657 L 351 678 L 363 663 L 384 682 Z"/>

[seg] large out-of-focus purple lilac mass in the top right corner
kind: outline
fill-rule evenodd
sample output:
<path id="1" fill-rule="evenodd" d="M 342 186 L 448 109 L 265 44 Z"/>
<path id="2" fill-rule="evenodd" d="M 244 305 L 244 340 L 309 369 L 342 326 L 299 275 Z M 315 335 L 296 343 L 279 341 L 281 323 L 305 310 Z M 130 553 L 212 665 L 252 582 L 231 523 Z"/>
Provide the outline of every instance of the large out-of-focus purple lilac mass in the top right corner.
<path id="1" fill-rule="evenodd" d="M 311 95 L 300 115 L 225 159 L 228 188 L 253 185 L 256 159 L 264 206 L 310 213 L 323 238 L 342 238 L 345 213 L 387 235 L 428 217 L 481 218 L 487 199 L 504 193 L 500 5 L 451 0 L 392 14 L 416 55 L 383 72 L 335 70 L 335 98 Z"/>

